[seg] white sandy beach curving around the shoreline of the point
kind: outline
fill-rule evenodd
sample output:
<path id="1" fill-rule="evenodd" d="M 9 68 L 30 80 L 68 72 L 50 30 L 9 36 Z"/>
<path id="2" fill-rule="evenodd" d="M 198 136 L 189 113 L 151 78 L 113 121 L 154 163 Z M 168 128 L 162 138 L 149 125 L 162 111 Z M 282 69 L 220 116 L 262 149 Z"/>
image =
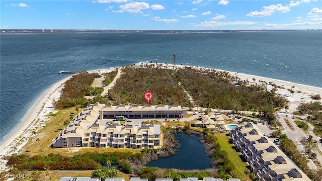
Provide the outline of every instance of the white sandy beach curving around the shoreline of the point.
<path id="1" fill-rule="evenodd" d="M 164 66 L 166 64 L 163 64 Z M 180 68 L 185 65 L 171 65 L 168 64 L 168 67 L 172 68 Z M 198 67 L 201 68 L 201 67 Z M 115 69 L 109 68 L 109 69 L 100 69 L 100 70 L 91 70 L 91 72 L 100 72 L 105 73 L 109 72 Z M 225 70 L 219 70 L 219 71 L 225 71 Z M 310 98 L 310 95 L 322 95 L 322 88 L 320 87 L 313 87 L 309 85 L 303 85 L 283 80 L 277 80 L 277 79 L 271 79 L 256 75 L 250 75 L 250 74 L 244 74 L 244 73 L 236 73 L 236 72 L 229 72 L 231 75 L 236 75 L 240 79 L 243 80 L 249 80 L 250 84 L 256 84 L 260 83 L 259 80 L 268 82 L 274 82 L 278 86 L 283 86 L 284 88 L 277 88 L 277 93 L 284 95 L 289 103 L 289 109 L 288 112 L 292 113 L 297 106 L 301 103 L 301 101 L 304 102 L 311 102 L 314 101 Z M 60 97 L 61 89 L 63 88 L 64 82 L 69 79 L 65 78 L 63 80 L 60 80 L 59 82 L 55 83 L 52 87 L 47 89 L 47 91 L 42 94 L 42 96 L 36 101 L 36 103 L 31 107 L 27 115 L 23 118 L 23 121 L 21 124 L 16 128 L 16 130 L 0 145 L 0 170 L 7 169 L 6 161 L 3 159 L 6 155 L 12 155 L 14 153 L 20 153 L 22 147 L 28 142 L 29 137 L 32 135 L 33 131 L 37 131 L 36 128 L 40 129 L 45 124 L 44 122 L 48 120 L 49 118 L 46 116 L 50 112 L 54 113 L 54 108 L 52 105 L 52 100 L 58 100 Z M 256 79 L 256 81 L 253 81 L 253 78 Z M 287 89 L 291 89 L 291 87 L 294 86 L 294 95 L 290 96 Z M 267 89 L 270 90 L 273 87 L 271 85 L 267 85 Z M 300 91 L 300 93 L 298 93 Z M 303 99 L 301 99 L 303 98 Z M 285 110 L 282 110 L 285 111 Z"/>

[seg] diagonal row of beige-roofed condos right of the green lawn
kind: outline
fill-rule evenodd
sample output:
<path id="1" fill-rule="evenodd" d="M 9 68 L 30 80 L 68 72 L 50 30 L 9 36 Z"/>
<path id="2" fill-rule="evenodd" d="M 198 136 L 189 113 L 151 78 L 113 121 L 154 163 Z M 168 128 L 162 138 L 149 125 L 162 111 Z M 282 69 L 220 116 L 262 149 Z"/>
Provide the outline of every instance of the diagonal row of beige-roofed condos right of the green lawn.
<path id="1" fill-rule="evenodd" d="M 310 180 L 254 123 L 231 130 L 230 136 L 258 180 Z"/>

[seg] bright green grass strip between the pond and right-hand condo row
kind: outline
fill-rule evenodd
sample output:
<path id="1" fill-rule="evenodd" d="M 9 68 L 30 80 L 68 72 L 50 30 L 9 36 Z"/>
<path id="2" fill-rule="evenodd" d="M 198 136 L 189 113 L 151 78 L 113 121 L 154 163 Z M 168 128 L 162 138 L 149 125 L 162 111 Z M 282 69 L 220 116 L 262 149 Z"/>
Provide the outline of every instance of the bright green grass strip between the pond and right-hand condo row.
<path id="1" fill-rule="evenodd" d="M 233 144 L 229 143 L 230 136 L 227 136 L 224 133 L 216 133 L 216 137 L 218 138 L 218 143 L 221 146 L 221 149 L 226 151 L 228 154 L 228 159 L 235 166 L 236 177 L 243 180 L 246 178 L 246 174 L 244 170 L 247 169 L 247 162 L 243 162 L 240 156 L 243 156 L 240 152 L 236 152 L 232 147 Z"/>

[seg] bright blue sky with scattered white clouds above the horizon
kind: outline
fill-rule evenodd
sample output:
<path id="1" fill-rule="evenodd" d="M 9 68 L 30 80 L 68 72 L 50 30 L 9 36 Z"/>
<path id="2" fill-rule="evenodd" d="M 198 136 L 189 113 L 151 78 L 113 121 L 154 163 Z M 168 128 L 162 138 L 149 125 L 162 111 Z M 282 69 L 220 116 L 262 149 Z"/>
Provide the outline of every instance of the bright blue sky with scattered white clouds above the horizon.
<path id="1" fill-rule="evenodd" d="M 2 29 L 322 29 L 322 0 L 0 1 Z"/>

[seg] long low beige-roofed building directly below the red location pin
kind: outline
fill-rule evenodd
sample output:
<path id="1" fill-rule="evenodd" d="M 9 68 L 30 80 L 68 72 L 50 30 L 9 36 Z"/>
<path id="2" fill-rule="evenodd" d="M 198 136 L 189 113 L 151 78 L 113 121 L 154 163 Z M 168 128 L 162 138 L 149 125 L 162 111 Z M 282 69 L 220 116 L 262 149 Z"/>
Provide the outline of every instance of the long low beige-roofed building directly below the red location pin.
<path id="1" fill-rule="evenodd" d="M 113 119 L 116 116 L 126 118 L 186 118 L 187 110 L 178 105 L 106 105 L 102 109 L 101 119 Z"/>

